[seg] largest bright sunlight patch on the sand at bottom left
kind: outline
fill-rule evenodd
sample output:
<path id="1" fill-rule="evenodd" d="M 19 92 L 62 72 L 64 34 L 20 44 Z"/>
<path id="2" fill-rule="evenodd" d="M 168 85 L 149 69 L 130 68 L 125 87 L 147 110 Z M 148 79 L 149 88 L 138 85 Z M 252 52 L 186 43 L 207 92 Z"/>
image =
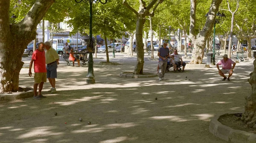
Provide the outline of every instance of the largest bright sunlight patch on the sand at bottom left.
<path id="1" fill-rule="evenodd" d="M 41 137 L 47 137 L 47 136 L 54 136 L 54 135 L 62 135 L 63 132 L 52 132 L 49 131 L 51 129 L 56 129 L 54 126 L 42 126 L 42 127 L 36 127 L 32 128 L 29 132 L 24 133 L 22 135 L 19 135 L 17 139 L 24 139 L 29 137 L 38 137 L 40 135 Z"/>

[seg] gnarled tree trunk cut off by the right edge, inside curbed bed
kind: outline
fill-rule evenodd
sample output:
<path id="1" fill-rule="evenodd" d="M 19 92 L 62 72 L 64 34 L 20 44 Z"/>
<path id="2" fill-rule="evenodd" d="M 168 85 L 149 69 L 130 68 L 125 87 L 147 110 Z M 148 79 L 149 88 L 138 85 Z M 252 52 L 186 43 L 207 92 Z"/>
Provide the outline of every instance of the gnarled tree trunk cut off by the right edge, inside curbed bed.
<path id="1" fill-rule="evenodd" d="M 256 60 L 253 62 L 254 70 L 250 73 L 249 83 L 252 86 L 252 92 L 245 97 L 244 113 L 241 120 L 247 123 L 250 128 L 256 128 Z"/>

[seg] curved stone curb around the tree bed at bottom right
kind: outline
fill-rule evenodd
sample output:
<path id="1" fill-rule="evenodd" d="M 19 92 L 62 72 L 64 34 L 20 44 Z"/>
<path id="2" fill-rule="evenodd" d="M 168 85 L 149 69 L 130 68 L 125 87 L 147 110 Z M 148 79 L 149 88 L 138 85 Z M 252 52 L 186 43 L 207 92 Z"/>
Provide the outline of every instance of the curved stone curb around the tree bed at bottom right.
<path id="1" fill-rule="evenodd" d="M 234 114 L 235 113 L 228 113 L 224 115 Z M 216 116 L 210 121 L 209 131 L 213 135 L 231 143 L 256 143 L 256 134 L 232 129 L 228 126 L 221 124 L 218 119 L 224 115 Z"/>

